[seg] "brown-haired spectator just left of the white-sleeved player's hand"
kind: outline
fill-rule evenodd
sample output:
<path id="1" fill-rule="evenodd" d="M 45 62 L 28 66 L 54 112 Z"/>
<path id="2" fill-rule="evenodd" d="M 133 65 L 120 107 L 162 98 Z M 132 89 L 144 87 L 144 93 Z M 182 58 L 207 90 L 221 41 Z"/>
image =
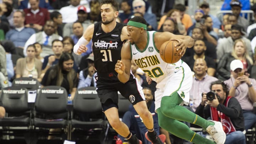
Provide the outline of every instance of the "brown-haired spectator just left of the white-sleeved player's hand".
<path id="1" fill-rule="evenodd" d="M 83 57 L 84 54 L 77 55 L 73 52 L 73 47 L 75 46 L 75 44 L 74 44 L 74 41 L 72 38 L 64 37 L 62 40 L 62 43 L 63 43 L 63 52 L 68 52 L 68 53 L 72 54 L 74 57 L 74 60 L 75 60 L 74 65 L 76 65 L 76 67 L 79 68 L 81 58 Z M 90 50 L 88 49 L 87 51 L 90 51 Z M 87 53 L 87 51 L 86 51 L 86 53 Z M 92 52 L 92 50 L 91 50 L 91 52 Z"/>

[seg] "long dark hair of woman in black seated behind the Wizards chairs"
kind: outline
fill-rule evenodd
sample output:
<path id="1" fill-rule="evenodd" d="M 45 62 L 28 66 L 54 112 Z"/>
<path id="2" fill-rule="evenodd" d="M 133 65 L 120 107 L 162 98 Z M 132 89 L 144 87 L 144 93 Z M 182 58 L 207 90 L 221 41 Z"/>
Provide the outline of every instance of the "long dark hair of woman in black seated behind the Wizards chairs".
<path id="1" fill-rule="evenodd" d="M 63 73 L 62 73 L 62 70 L 63 70 L 63 63 L 67 60 L 74 60 L 74 57 L 72 54 L 70 53 L 67 53 L 67 52 L 63 52 L 62 55 L 60 56 L 60 59 L 59 59 L 59 62 L 58 62 L 58 65 L 57 65 L 57 81 L 56 81 L 56 85 L 57 86 L 60 86 L 62 84 L 62 81 L 63 81 Z M 68 79 L 68 83 L 69 83 L 69 92 L 72 91 L 72 88 L 73 88 L 73 85 L 74 85 L 74 82 L 73 82 L 73 77 L 76 76 L 75 74 L 75 71 L 74 69 L 71 69 L 71 71 L 68 72 L 67 74 L 67 79 Z"/>

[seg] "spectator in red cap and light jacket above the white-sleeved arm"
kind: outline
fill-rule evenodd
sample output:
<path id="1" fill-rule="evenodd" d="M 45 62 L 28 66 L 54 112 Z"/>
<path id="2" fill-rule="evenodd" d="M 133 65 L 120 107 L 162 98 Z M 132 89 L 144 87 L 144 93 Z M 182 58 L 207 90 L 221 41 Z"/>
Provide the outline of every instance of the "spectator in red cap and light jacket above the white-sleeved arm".
<path id="1" fill-rule="evenodd" d="M 84 28 L 84 30 L 91 24 L 93 24 L 91 22 L 91 20 L 88 19 L 88 13 L 86 10 L 85 6 L 79 6 L 78 7 L 78 11 L 77 11 L 77 16 L 78 16 L 78 20 L 76 22 L 80 22 L 82 23 L 82 27 Z M 73 23 L 66 23 L 64 25 L 63 30 L 63 37 L 70 37 L 71 34 L 73 34 Z"/>

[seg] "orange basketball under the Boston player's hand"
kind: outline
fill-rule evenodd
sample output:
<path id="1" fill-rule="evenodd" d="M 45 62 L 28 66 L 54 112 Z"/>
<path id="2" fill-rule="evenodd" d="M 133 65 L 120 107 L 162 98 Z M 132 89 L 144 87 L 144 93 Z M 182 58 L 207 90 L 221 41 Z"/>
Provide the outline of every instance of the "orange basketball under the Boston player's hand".
<path id="1" fill-rule="evenodd" d="M 175 48 L 175 45 L 178 43 L 176 40 L 170 40 L 164 42 L 160 47 L 160 57 L 162 60 L 164 60 L 166 63 L 173 64 L 178 62 L 181 59 L 181 49 L 178 51 Z"/>

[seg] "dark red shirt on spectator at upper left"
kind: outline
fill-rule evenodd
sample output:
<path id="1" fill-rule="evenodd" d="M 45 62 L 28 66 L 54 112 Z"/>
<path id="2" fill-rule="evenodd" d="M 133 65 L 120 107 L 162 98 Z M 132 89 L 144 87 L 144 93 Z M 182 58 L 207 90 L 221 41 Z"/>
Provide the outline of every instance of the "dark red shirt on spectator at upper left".
<path id="1" fill-rule="evenodd" d="M 50 19 L 50 13 L 47 9 L 39 8 L 39 12 L 33 14 L 31 9 L 24 9 L 25 12 L 25 25 L 28 23 L 37 23 L 43 26 L 47 20 Z"/>

